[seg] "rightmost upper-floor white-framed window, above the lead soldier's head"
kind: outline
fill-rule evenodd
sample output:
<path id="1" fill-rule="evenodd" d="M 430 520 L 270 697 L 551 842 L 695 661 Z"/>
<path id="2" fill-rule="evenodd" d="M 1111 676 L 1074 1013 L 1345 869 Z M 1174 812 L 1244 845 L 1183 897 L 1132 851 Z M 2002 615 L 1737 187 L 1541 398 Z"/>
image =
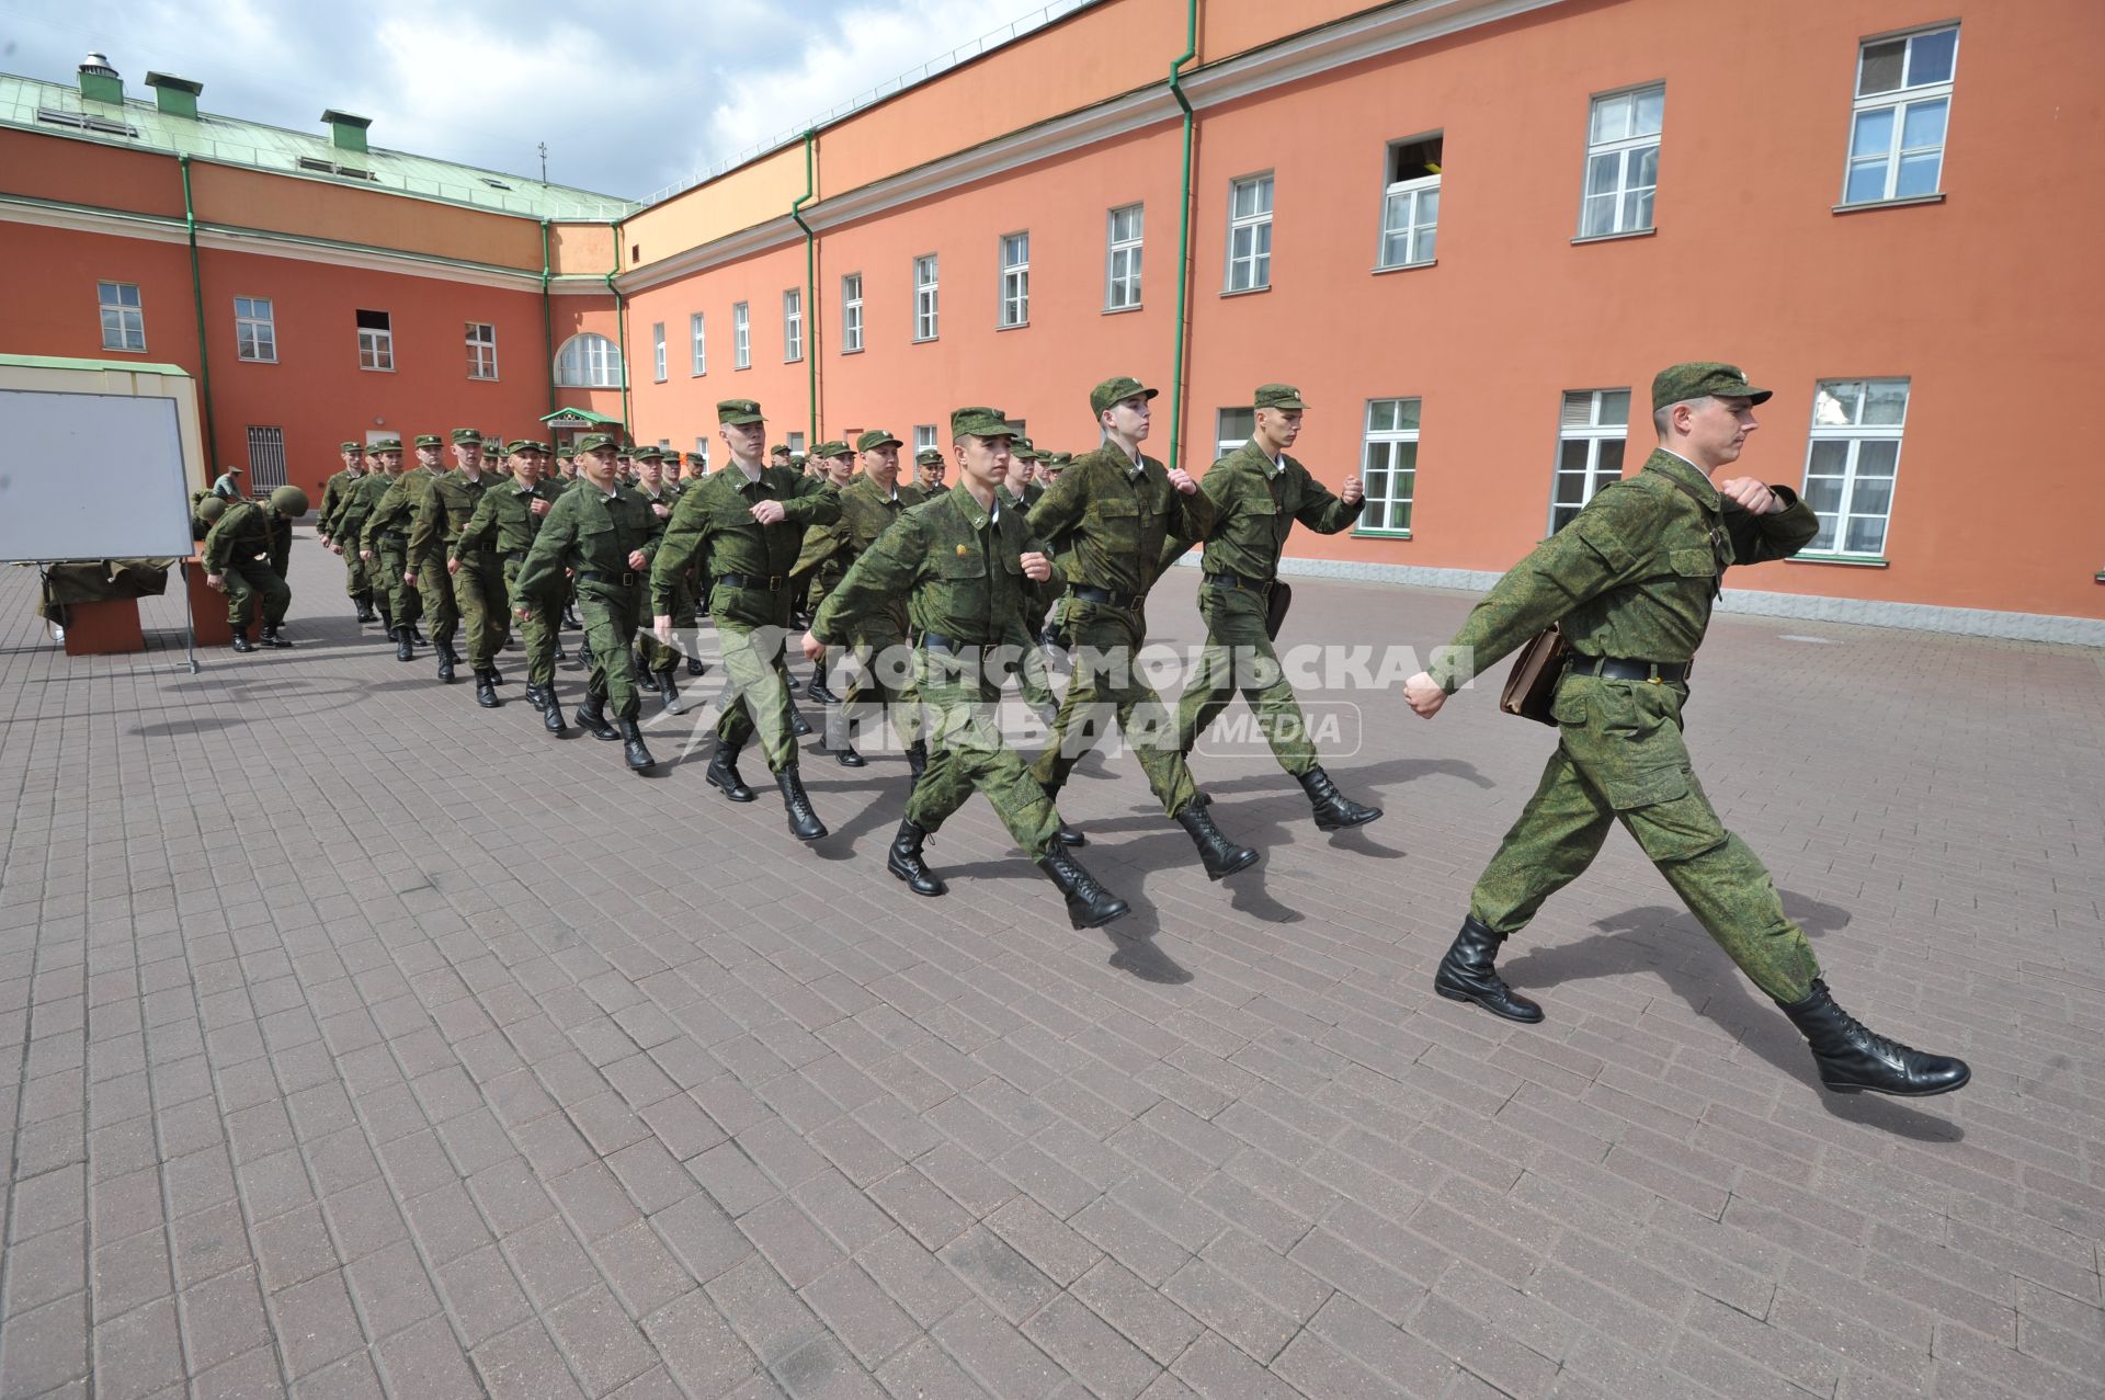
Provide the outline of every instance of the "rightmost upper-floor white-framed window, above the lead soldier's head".
<path id="1" fill-rule="evenodd" d="M 1958 59 L 1958 25 L 1859 46 L 1844 204 L 1937 194 Z"/>

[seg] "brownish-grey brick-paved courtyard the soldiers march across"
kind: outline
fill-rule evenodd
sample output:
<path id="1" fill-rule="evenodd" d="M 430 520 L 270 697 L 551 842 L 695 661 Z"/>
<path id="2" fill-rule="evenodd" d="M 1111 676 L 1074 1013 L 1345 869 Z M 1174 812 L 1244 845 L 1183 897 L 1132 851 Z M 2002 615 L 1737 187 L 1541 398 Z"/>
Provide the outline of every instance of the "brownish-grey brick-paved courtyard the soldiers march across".
<path id="1" fill-rule="evenodd" d="M 1547 1023 L 1431 996 L 1553 743 L 1488 686 L 1339 697 L 1358 834 L 1202 758 L 1265 848 L 1221 886 L 1086 762 L 1107 937 L 981 800 L 907 895 L 897 756 L 808 756 L 800 848 L 682 720 L 640 779 L 518 653 L 478 709 L 309 531 L 299 648 L 196 676 L 0 581 L 8 1398 L 2105 1394 L 2099 653 L 1711 629 L 1711 798 L 1838 1000 L 1972 1061 L 1901 1103 L 1825 1095 L 1623 834 L 1503 960 Z M 1292 642 L 1469 602 L 1297 594 Z"/>

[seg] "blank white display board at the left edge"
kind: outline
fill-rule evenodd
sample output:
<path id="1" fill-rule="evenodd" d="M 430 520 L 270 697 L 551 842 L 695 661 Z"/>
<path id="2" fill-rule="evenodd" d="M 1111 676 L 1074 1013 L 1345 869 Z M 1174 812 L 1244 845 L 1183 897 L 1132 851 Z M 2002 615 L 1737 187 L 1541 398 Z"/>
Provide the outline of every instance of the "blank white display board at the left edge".
<path id="1" fill-rule="evenodd" d="M 0 389 L 0 562 L 185 558 L 173 398 Z"/>

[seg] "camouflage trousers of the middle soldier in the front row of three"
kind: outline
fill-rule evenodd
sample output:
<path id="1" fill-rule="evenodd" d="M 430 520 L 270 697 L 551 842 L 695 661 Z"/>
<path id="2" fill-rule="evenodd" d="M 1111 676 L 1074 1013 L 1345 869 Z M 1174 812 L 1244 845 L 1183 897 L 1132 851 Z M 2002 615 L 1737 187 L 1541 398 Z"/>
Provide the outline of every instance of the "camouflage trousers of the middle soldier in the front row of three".
<path id="1" fill-rule="evenodd" d="M 1175 817 L 1198 796 L 1198 787 L 1191 785 L 1191 771 L 1177 749 L 1175 718 L 1135 663 L 1147 623 L 1139 613 L 1067 598 L 1067 636 L 1074 684 L 1067 686 L 1067 699 L 1052 720 L 1044 754 L 1031 764 L 1031 777 L 1048 794 L 1059 796 L 1067 775 L 1116 718 L 1162 811 Z"/>

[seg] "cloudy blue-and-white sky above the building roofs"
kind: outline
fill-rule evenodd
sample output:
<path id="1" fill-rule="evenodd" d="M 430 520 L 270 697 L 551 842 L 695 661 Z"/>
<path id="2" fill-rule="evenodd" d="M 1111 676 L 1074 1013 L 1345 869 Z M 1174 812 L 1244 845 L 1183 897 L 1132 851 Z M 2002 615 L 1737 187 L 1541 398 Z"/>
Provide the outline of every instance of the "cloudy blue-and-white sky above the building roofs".
<path id="1" fill-rule="evenodd" d="M 1055 0 L 1069 8 L 1071 0 Z M 0 72 L 109 55 L 204 84 L 208 112 L 644 198 L 1046 0 L 0 0 Z"/>

